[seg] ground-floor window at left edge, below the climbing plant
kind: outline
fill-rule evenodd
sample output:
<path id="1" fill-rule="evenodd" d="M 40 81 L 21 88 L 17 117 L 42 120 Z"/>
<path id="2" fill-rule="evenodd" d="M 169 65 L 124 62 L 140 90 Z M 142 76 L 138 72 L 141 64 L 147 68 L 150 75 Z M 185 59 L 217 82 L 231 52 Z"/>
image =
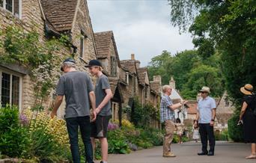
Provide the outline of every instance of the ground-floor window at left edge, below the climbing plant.
<path id="1" fill-rule="evenodd" d="M 19 106 L 20 100 L 20 77 L 11 73 L 0 72 L 0 105 L 7 104 Z"/>

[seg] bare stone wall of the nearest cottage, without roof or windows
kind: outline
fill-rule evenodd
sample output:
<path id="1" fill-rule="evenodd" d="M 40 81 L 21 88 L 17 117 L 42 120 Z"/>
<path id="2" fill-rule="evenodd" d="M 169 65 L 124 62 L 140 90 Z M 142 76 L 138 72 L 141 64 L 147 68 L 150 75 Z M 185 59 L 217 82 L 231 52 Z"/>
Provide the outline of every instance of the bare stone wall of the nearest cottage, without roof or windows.
<path id="1" fill-rule="evenodd" d="M 45 31 L 44 31 L 44 21 L 43 15 L 40 10 L 40 4 L 37 0 L 23 0 L 22 1 L 22 19 L 13 16 L 12 13 L 4 10 L 0 7 L 0 30 L 7 28 L 7 26 L 19 26 L 25 29 L 25 31 L 37 31 L 40 34 L 40 42 L 45 43 Z M 81 28 L 85 31 L 88 36 L 85 42 L 85 54 L 84 58 L 79 59 L 79 46 L 80 46 L 80 34 Z M 88 15 L 88 8 L 85 1 L 80 1 L 79 11 L 77 12 L 76 22 L 74 23 L 72 31 L 72 41 L 75 46 L 78 47 L 78 53 L 75 54 L 75 59 L 77 62 L 77 69 L 82 71 L 88 71 L 85 69 L 85 62 L 96 58 L 96 49 L 94 43 L 94 32 L 91 27 L 91 20 Z M 0 36 L 0 41 L 3 40 L 3 36 Z M 1 52 L 1 51 L 0 51 Z M 73 53 L 73 49 L 67 48 L 65 46 L 61 47 L 56 55 L 60 56 L 61 59 L 67 58 Z M 59 63 L 59 61 L 58 61 Z M 57 64 L 57 63 L 56 63 Z M 61 66 L 61 65 L 60 65 Z M 56 67 L 53 72 L 53 76 L 60 76 L 60 67 Z M 57 84 L 58 79 L 56 79 L 55 84 Z M 49 108 L 52 105 L 53 92 L 50 93 L 49 98 L 43 102 L 43 106 Z M 22 109 L 32 107 L 35 101 L 34 92 L 34 82 L 31 81 L 29 75 L 22 77 Z M 61 107 L 61 114 L 63 114 L 64 105 Z"/>

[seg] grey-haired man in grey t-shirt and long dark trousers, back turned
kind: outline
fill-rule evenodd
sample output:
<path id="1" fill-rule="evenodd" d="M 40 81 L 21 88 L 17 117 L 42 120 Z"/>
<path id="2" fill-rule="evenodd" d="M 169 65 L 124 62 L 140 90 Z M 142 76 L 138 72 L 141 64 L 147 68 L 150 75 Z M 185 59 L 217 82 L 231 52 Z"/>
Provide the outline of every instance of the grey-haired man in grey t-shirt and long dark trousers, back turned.
<path id="1" fill-rule="evenodd" d="M 91 125 L 90 125 L 90 104 L 95 109 L 94 87 L 87 73 L 76 71 L 76 62 L 72 58 L 67 58 L 61 70 L 64 75 L 58 81 L 56 89 L 57 98 L 51 113 L 51 117 L 57 115 L 57 111 L 63 98 L 66 99 L 65 120 L 67 122 L 67 132 L 70 138 L 70 150 L 73 162 L 80 162 L 78 128 L 81 131 L 82 141 L 85 145 L 85 157 L 88 163 L 93 163 L 93 148 L 91 145 Z M 93 119 L 96 119 L 94 114 Z"/>

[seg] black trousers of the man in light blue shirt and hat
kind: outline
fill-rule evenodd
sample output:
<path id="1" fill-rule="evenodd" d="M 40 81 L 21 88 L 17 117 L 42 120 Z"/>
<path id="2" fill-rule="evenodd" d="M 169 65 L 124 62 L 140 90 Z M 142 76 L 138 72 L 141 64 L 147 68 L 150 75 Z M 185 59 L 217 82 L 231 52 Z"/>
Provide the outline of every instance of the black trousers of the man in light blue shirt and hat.
<path id="1" fill-rule="evenodd" d="M 209 141 L 209 152 L 214 153 L 215 137 L 213 132 L 213 126 L 210 126 L 210 123 L 199 123 L 199 133 L 201 136 L 202 152 L 208 153 L 207 145 Z"/>

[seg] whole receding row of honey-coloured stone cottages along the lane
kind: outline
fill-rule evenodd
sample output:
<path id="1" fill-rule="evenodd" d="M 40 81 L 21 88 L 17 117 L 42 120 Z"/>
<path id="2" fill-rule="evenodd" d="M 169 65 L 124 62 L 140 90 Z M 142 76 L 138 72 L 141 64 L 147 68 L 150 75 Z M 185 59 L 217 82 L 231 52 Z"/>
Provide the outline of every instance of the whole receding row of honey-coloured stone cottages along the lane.
<path id="1" fill-rule="evenodd" d="M 109 77 L 114 95 L 113 119 L 121 120 L 122 108 L 127 106 L 132 108 L 132 102 L 136 97 L 142 105 L 150 102 L 156 107 L 159 103 L 161 77 L 156 76 L 150 82 L 147 68 L 140 67 L 135 55 L 131 55 L 130 60 L 120 61 L 113 32 L 94 33 L 86 0 L 0 0 L 0 30 L 10 25 L 23 28 L 25 32 L 37 31 L 42 44 L 52 37 L 67 35 L 68 46 L 61 46 L 55 55 L 61 60 L 73 56 L 78 70 L 88 71 L 85 68 L 88 61 L 99 59 L 103 64 L 103 73 Z M 0 41 L 3 40 L 4 36 L 0 36 Z M 54 70 L 55 76 L 61 75 L 59 68 Z M 34 82 L 30 75 L 31 72 L 27 67 L 0 64 L 1 105 L 7 103 L 19 105 L 20 111 L 34 105 L 36 100 Z M 57 82 L 58 79 L 55 84 Z M 43 102 L 43 106 L 51 107 L 54 99 L 54 90 L 52 90 L 49 98 Z M 64 104 L 58 116 L 64 116 Z M 157 122 L 152 126 L 157 126 Z"/>

